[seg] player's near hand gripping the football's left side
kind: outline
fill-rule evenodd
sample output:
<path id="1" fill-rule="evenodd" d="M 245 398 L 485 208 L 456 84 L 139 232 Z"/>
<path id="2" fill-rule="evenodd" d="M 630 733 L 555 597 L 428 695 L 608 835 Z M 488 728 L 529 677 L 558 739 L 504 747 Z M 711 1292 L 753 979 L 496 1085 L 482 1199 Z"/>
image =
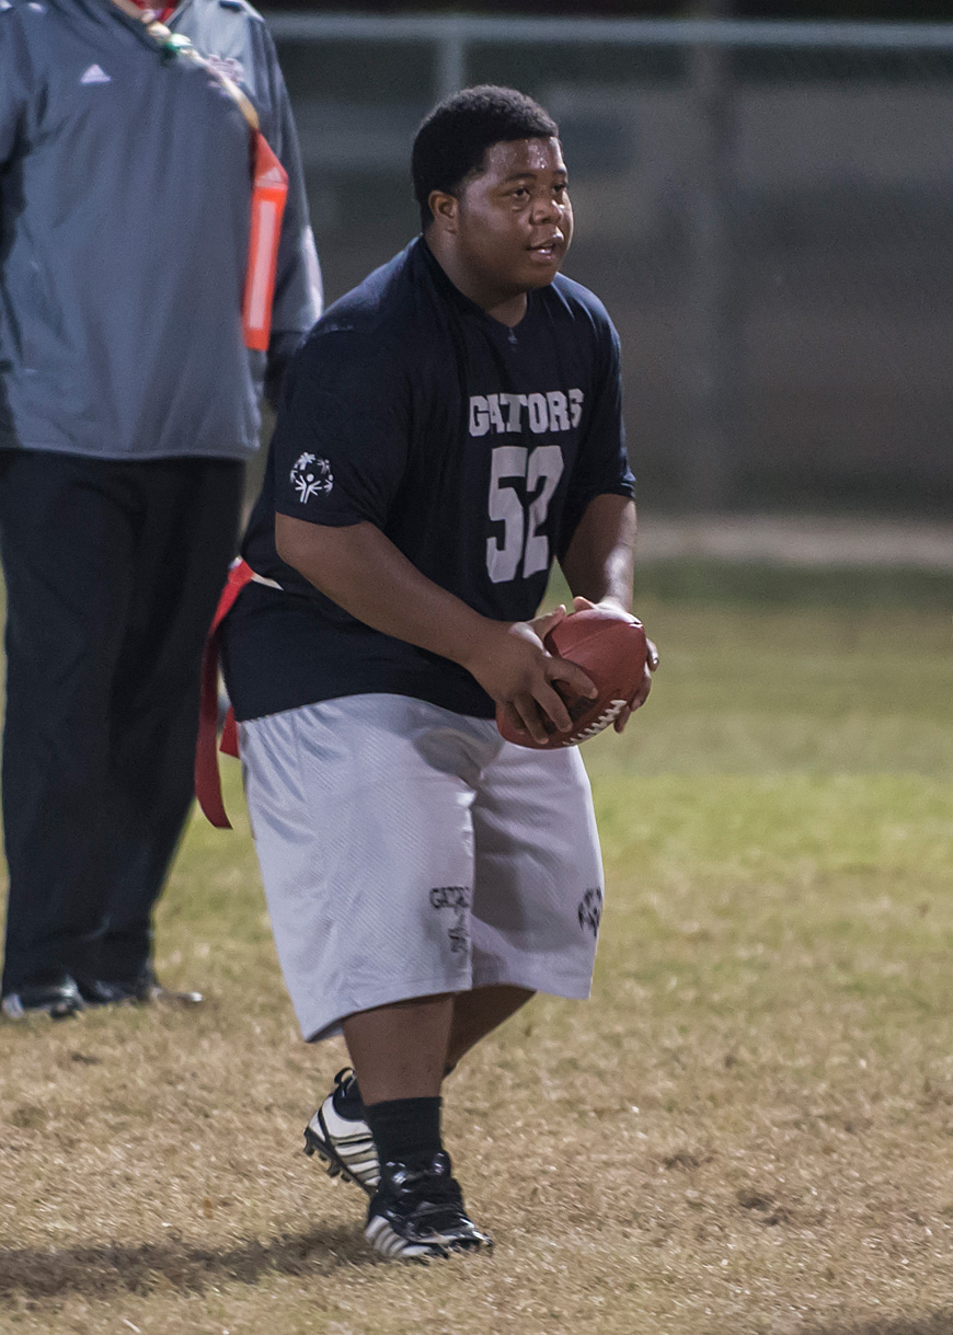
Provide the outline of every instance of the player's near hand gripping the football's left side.
<path id="1" fill-rule="evenodd" d="M 534 621 L 487 621 L 463 666 L 507 716 L 510 724 L 546 742 L 545 720 L 561 733 L 573 728 L 566 705 L 554 690 L 565 681 L 570 694 L 593 698 L 597 692 L 582 668 L 555 658 L 543 645 L 545 637 L 566 617 L 559 606 Z"/>

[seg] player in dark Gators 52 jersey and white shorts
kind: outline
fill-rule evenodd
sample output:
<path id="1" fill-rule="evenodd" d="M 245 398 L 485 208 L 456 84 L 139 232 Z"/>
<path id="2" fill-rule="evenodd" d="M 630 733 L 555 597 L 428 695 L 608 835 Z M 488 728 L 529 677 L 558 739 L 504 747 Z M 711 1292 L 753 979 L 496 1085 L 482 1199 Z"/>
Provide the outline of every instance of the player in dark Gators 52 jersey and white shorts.
<path id="1" fill-rule="evenodd" d="M 559 275 L 558 128 L 470 88 L 420 125 L 423 231 L 332 306 L 292 363 L 224 626 L 246 790 L 304 1037 L 354 1063 L 307 1147 L 370 1196 L 387 1256 L 489 1244 L 440 1136 L 443 1079 L 534 992 L 589 995 L 602 866 L 535 617 L 555 558 L 577 606 L 627 614 L 635 507 L 619 344 Z M 267 581 L 267 583 L 266 583 Z M 654 661 L 654 659 L 653 659 Z M 649 670 L 619 717 L 649 692 Z"/>

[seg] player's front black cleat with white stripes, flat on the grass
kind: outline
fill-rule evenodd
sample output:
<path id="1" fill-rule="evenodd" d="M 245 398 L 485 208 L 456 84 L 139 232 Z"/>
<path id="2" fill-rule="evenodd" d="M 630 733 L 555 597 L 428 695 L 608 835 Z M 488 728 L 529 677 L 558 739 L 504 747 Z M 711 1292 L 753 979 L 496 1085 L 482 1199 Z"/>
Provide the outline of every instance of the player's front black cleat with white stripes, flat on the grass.
<path id="1" fill-rule="evenodd" d="M 426 1259 L 493 1247 L 467 1218 L 450 1156 L 386 1163 L 367 1211 L 364 1238 L 387 1258 Z"/>

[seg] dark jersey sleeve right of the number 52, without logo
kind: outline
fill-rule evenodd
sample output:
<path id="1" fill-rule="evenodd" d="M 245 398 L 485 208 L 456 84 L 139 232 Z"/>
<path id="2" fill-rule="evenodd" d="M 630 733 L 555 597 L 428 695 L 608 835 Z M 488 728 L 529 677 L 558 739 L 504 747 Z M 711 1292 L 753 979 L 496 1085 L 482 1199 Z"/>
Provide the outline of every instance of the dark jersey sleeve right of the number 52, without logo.
<path id="1" fill-rule="evenodd" d="M 607 315 L 598 330 L 591 406 L 579 454 L 566 491 L 558 555 L 565 557 L 586 506 L 598 495 L 635 495 L 622 419 L 622 356 L 619 336 Z"/>

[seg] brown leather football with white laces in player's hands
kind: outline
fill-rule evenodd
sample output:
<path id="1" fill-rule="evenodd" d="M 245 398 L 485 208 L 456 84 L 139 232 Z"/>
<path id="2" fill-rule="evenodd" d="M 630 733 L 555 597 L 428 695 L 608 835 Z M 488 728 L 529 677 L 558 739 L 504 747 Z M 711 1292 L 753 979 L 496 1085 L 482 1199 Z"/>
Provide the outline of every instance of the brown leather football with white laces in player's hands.
<path id="1" fill-rule="evenodd" d="M 582 668 L 598 694 L 589 700 L 570 694 L 565 682 L 554 682 L 566 702 L 573 730 L 553 732 L 546 742 L 534 742 L 529 733 L 515 732 L 499 709 L 497 726 L 507 742 L 533 750 L 577 746 L 609 728 L 638 690 L 647 653 L 645 630 L 635 617 L 587 607 L 561 621 L 543 643 L 551 654 Z"/>

